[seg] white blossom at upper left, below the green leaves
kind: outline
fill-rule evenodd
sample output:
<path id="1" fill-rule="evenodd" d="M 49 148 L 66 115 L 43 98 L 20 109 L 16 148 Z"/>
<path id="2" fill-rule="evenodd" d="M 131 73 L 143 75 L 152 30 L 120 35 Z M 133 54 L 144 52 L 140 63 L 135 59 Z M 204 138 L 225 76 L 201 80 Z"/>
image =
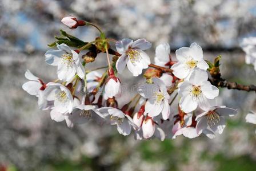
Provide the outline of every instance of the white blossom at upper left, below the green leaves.
<path id="1" fill-rule="evenodd" d="M 58 78 L 68 82 L 77 74 L 82 79 L 85 76 L 85 68 L 78 53 L 64 43 L 57 44 L 57 48 L 58 50 L 48 50 L 45 53 L 45 61 L 51 66 L 58 66 Z"/>

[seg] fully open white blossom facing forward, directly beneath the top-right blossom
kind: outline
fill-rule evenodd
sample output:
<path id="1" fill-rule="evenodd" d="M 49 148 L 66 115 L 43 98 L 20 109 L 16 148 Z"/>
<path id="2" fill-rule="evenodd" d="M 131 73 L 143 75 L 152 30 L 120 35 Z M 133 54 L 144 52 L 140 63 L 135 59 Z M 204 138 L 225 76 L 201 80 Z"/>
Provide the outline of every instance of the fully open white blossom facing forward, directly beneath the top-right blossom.
<path id="1" fill-rule="evenodd" d="M 178 84 L 178 94 L 181 96 L 179 106 L 182 111 L 189 113 L 197 107 L 207 110 L 219 95 L 219 89 L 207 81 L 207 72 L 195 68 L 190 79 Z"/>

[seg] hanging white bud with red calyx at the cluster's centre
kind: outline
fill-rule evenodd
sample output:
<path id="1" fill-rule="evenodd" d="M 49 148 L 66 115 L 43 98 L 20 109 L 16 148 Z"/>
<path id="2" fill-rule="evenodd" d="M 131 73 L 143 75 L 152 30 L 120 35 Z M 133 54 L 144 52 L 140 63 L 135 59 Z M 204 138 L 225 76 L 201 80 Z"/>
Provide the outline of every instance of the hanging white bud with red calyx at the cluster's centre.
<path id="1" fill-rule="evenodd" d="M 107 97 L 112 98 L 117 95 L 120 88 L 120 80 L 115 77 L 113 68 L 109 69 L 109 79 L 107 79 L 105 92 Z"/>

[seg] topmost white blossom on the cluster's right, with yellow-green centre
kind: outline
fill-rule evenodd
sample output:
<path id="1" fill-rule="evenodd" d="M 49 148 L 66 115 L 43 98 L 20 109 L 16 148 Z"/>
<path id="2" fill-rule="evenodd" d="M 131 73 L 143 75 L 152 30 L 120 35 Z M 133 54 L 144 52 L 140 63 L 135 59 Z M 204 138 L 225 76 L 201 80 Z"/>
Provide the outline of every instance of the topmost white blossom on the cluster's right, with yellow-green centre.
<path id="1" fill-rule="evenodd" d="M 190 47 L 181 47 L 175 53 L 178 63 L 171 66 L 171 70 L 179 79 L 189 79 L 195 68 L 205 71 L 209 68 L 203 60 L 203 50 L 197 43 L 192 43 Z"/>

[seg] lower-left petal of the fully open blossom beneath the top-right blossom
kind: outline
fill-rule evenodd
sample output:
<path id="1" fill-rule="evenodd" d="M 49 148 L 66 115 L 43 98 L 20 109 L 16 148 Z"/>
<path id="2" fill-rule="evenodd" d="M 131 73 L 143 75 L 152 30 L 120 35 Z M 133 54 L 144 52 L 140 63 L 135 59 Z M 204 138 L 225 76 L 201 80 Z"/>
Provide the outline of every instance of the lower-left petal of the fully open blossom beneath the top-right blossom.
<path id="1" fill-rule="evenodd" d="M 194 111 L 197 108 L 197 105 L 197 101 L 195 101 L 191 95 L 181 97 L 181 100 L 179 101 L 179 106 L 185 113 Z"/>

